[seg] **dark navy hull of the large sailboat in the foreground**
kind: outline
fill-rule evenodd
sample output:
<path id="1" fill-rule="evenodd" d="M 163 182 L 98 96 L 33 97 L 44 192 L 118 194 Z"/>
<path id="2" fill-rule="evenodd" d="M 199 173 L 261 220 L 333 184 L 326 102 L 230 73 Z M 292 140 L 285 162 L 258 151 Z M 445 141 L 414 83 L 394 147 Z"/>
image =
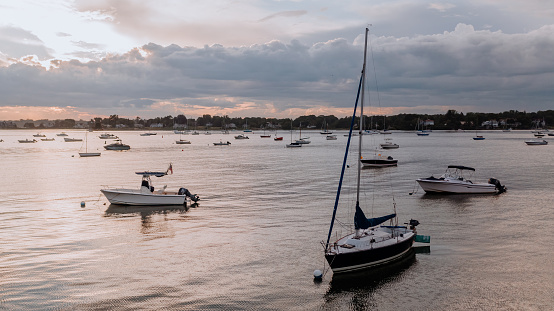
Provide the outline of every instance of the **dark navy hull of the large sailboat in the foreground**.
<path id="1" fill-rule="evenodd" d="M 331 266 L 333 273 L 346 273 L 378 267 L 407 256 L 412 248 L 414 238 L 415 234 L 412 234 L 397 243 L 383 247 L 369 247 L 347 252 L 328 252 L 325 254 L 325 259 Z M 373 244 L 379 244 L 379 242 Z"/>

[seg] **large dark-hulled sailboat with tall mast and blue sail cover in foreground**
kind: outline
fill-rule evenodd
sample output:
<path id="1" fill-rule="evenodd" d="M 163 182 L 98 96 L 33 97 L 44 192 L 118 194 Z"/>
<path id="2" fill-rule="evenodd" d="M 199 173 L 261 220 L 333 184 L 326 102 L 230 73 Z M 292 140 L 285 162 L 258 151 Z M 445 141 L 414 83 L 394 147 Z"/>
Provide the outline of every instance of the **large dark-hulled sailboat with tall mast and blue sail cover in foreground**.
<path id="1" fill-rule="evenodd" d="M 366 218 L 360 206 L 360 179 L 361 179 L 361 153 L 362 153 L 362 135 L 363 132 L 363 100 L 364 100 L 364 83 L 366 73 L 366 55 L 367 55 L 367 40 L 369 29 L 365 31 L 365 48 L 364 48 L 364 64 L 360 84 L 358 86 L 358 95 L 356 104 L 354 105 L 354 114 L 350 124 L 350 135 L 346 144 L 346 152 L 342 164 L 340 181 L 333 209 L 333 216 L 329 227 L 327 242 L 324 244 L 325 259 L 333 270 L 333 273 L 344 273 L 357 271 L 362 269 L 373 268 L 384 264 L 392 263 L 410 255 L 412 245 L 416 240 L 416 226 L 419 224 L 417 220 L 410 220 L 408 226 L 398 225 L 398 216 L 396 214 L 396 205 L 393 204 L 394 213 L 377 217 Z M 331 234 L 333 232 L 333 224 L 339 203 L 342 181 L 346 168 L 348 149 L 352 139 L 352 130 L 354 128 L 354 120 L 360 98 L 360 126 L 359 126 L 359 143 L 358 143 L 358 159 L 357 159 L 357 179 L 356 179 L 356 207 L 354 215 L 354 232 L 337 239 L 331 243 Z M 390 220 L 390 225 L 380 226 L 382 223 Z M 314 273 L 315 276 L 315 273 Z"/>

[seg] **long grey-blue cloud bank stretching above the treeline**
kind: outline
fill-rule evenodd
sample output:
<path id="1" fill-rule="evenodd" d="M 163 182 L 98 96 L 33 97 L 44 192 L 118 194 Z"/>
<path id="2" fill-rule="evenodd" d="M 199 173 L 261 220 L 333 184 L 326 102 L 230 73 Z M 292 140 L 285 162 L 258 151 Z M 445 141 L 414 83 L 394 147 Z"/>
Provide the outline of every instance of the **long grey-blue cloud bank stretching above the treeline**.
<path id="1" fill-rule="evenodd" d="M 1 104 L 63 103 L 101 115 L 141 117 L 346 112 L 356 96 L 362 41 L 359 34 L 353 42 L 338 38 L 311 45 L 297 40 L 202 48 L 150 43 L 100 61 L 58 60 L 52 68 L 18 62 L 0 68 Z M 551 109 L 554 63 L 548 60 L 554 25 L 505 34 L 458 24 L 434 35 L 372 35 L 370 42 L 373 109 Z"/>

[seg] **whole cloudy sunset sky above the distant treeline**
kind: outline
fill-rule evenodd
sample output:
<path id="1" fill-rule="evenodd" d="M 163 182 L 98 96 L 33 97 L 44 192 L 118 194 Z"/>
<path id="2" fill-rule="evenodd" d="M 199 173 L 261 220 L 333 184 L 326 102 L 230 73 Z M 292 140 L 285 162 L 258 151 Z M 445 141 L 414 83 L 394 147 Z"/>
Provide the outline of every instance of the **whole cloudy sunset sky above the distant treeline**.
<path id="1" fill-rule="evenodd" d="M 554 109 L 550 0 L 0 0 L 0 120 Z"/>

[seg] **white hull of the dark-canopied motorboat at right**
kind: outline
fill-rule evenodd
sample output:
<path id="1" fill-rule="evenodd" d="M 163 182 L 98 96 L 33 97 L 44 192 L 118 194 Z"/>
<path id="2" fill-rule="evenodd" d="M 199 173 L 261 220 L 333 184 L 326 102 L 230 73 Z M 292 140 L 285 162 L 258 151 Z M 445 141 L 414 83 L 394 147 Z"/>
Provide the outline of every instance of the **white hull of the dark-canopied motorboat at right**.
<path id="1" fill-rule="evenodd" d="M 496 186 L 485 183 L 455 182 L 441 179 L 417 179 L 417 183 L 428 193 L 496 193 Z"/>

